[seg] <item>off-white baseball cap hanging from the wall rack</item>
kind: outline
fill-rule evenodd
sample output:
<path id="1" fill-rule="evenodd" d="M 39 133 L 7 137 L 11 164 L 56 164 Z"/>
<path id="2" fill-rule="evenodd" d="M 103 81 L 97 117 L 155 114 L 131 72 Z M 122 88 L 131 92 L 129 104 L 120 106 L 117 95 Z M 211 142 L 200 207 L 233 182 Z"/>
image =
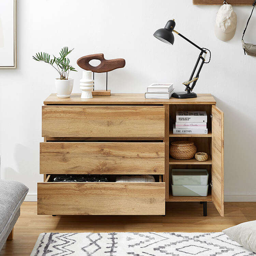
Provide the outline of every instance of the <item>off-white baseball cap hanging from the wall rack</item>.
<path id="1" fill-rule="evenodd" d="M 237 28 L 237 15 L 232 5 L 224 1 L 216 16 L 215 35 L 219 40 L 228 41 L 234 37 Z"/>

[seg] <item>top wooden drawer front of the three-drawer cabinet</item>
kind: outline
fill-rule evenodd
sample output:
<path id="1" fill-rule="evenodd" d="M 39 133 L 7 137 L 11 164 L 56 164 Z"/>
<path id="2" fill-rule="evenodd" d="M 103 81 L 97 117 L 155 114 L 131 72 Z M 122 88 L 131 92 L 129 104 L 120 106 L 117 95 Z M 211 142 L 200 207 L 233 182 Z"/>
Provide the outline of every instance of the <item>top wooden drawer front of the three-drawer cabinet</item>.
<path id="1" fill-rule="evenodd" d="M 164 106 L 42 106 L 42 137 L 164 136 Z"/>

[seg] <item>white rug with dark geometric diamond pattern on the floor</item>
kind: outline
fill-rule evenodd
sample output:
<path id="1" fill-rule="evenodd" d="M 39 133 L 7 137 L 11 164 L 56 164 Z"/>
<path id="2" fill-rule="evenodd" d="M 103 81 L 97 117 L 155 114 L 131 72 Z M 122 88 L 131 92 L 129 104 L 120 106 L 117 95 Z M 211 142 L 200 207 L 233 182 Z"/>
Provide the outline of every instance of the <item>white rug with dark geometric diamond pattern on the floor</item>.
<path id="1" fill-rule="evenodd" d="M 247 256 L 224 233 L 42 233 L 30 256 Z"/>

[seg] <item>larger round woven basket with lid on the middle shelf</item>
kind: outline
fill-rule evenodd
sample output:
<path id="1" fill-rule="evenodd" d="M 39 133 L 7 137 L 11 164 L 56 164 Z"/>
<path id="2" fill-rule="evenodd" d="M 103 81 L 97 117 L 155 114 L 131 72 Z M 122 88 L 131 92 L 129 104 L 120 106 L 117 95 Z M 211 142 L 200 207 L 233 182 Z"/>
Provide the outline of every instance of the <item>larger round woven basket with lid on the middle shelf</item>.
<path id="1" fill-rule="evenodd" d="M 173 141 L 170 146 L 170 155 L 174 159 L 185 160 L 195 156 L 197 148 L 191 141 Z"/>

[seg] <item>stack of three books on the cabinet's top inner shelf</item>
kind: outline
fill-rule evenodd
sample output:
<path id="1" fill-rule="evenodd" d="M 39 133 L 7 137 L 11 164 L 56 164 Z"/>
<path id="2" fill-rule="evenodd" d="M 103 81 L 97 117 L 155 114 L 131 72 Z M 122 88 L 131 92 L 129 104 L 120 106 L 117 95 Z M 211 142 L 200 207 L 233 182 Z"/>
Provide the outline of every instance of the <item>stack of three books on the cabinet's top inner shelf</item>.
<path id="1" fill-rule="evenodd" d="M 176 111 L 176 123 L 173 133 L 205 134 L 207 129 L 207 114 L 205 111 Z"/>

